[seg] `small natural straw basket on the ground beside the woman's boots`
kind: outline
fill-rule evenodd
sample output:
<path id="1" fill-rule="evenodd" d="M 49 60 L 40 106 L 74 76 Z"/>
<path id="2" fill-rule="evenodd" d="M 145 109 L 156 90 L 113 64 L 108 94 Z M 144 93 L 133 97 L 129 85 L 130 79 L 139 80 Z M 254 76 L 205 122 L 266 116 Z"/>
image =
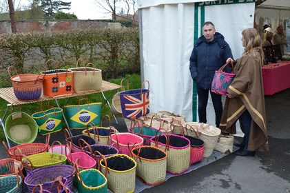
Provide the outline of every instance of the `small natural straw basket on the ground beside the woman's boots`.
<path id="1" fill-rule="evenodd" d="M 225 154 L 230 154 L 233 152 L 233 146 L 234 136 L 220 134 L 220 136 L 218 136 L 218 143 L 214 146 L 214 150 Z"/>

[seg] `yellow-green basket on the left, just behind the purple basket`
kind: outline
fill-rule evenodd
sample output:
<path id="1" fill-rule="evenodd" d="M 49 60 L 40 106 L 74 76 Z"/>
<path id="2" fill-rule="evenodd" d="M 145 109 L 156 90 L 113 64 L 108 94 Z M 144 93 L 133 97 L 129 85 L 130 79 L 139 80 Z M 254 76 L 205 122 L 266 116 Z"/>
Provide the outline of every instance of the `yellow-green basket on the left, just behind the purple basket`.
<path id="1" fill-rule="evenodd" d="M 22 158 L 22 164 L 24 165 L 25 171 L 30 172 L 40 167 L 47 167 L 50 165 L 65 164 L 67 160 L 66 156 L 56 153 L 39 153 L 31 156 L 24 156 Z"/>

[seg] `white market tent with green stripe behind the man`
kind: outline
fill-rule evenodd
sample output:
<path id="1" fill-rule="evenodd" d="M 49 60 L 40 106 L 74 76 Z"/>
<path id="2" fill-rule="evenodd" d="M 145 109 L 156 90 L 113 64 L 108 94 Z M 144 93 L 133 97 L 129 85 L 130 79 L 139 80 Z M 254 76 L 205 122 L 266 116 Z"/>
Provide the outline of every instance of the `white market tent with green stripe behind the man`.
<path id="1" fill-rule="evenodd" d="M 138 0 L 141 73 L 142 79 L 150 83 L 150 110 L 167 110 L 185 115 L 186 121 L 197 121 L 197 96 L 189 72 L 189 57 L 194 41 L 202 34 L 203 23 L 212 21 L 215 24 L 216 31 L 225 37 L 237 59 L 243 51 L 241 32 L 253 28 L 257 21 L 255 13 L 259 18 L 265 16 L 262 6 L 290 7 L 289 0 L 268 0 L 268 3 L 255 0 Z M 257 13 L 258 4 L 261 8 Z M 269 18 L 289 18 L 289 13 L 282 9 L 275 12 Z M 207 123 L 215 125 L 211 101 L 207 112 Z"/>

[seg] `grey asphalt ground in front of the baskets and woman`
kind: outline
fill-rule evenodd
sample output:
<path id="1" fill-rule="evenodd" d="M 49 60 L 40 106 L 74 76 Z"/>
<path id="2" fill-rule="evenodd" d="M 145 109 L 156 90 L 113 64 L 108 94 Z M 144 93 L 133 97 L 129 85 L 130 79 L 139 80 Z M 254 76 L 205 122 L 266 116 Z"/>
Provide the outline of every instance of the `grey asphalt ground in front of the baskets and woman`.
<path id="1" fill-rule="evenodd" d="M 265 103 L 269 152 L 258 152 L 254 157 L 229 154 L 143 192 L 290 192 L 290 89 L 265 96 Z M 112 120 L 112 125 L 121 132 L 126 131 L 125 121 L 118 119 L 118 122 L 117 125 Z M 72 132 L 75 135 L 81 131 Z M 63 132 L 59 132 L 52 134 L 51 141 L 63 142 L 63 139 Z M 44 137 L 38 137 L 37 141 L 43 142 Z M 0 159 L 6 156 L 0 145 Z"/>

